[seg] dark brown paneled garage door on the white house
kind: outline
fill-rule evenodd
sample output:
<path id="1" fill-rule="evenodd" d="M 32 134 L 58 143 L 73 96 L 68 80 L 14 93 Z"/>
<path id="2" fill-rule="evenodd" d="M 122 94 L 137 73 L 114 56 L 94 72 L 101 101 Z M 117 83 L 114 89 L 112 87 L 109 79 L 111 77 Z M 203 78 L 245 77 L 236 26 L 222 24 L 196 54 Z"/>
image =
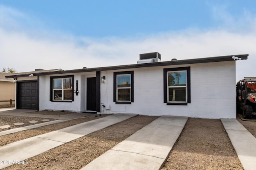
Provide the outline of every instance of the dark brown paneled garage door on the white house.
<path id="1" fill-rule="evenodd" d="M 17 109 L 39 109 L 37 81 L 18 82 Z"/>

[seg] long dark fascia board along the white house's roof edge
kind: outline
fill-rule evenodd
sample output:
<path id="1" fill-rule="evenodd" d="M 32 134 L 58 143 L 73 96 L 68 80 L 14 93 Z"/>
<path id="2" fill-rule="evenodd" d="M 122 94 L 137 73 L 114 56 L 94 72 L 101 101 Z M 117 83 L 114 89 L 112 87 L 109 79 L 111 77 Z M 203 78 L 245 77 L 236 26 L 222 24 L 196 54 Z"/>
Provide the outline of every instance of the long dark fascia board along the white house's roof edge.
<path id="1" fill-rule="evenodd" d="M 34 76 L 50 75 L 50 74 L 70 74 L 70 73 L 79 73 L 79 72 L 95 72 L 95 71 L 107 71 L 107 70 L 122 70 L 122 69 L 129 69 L 129 68 L 142 68 L 142 67 L 153 67 L 153 66 L 171 66 L 171 65 L 182 65 L 182 64 L 198 64 L 198 63 L 234 61 L 234 59 L 232 59 L 233 56 L 241 58 L 242 60 L 247 60 L 247 58 L 248 58 L 248 54 L 227 55 L 227 56 L 206 57 L 206 58 L 199 58 L 199 59 L 163 61 L 163 62 L 157 62 L 157 63 L 142 63 L 142 64 L 130 64 L 130 65 L 120 65 L 120 66 L 85 68 L 85 69 L 66 70 L 66 71 L 41 72 L 41 73 L 34 73 Z M 5 76 L 5 77 L 6 78 L 28 77 L 29 75 L 30 74 L 19 74 L 19 75 Z"/>

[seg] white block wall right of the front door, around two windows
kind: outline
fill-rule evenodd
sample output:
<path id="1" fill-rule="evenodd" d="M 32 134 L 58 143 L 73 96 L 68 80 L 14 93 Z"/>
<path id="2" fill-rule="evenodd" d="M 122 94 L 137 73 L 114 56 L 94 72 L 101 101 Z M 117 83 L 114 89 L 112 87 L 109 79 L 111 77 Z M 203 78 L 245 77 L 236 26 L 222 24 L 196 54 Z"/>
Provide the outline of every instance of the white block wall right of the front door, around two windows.
<path id="1" fill-rule="evenodd" d="M 166 105 L 163 91 L 163 68 L 190 66 L 191 103 L 185 106 Z M 134 71 L 134 102 L 113 102 L 113 72 Z M 138 113 L 142 115 L 180 115 L 200 118 L 235 118 L 235 61 L 134 68 L 101 72 L 106 83 L 101 84 L 104 113 Z"/>

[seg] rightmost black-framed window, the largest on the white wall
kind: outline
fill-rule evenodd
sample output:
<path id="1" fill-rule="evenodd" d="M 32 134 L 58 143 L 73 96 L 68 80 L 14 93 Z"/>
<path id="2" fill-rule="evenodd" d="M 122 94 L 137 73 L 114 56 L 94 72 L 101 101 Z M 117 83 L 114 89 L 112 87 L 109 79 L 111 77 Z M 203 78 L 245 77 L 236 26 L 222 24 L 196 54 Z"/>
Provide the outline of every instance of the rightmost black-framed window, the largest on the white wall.
<path id="1" fill-rule="evenodd" d="M 164 103 L 190 103 L 190 67 L 164 68 Z"/>

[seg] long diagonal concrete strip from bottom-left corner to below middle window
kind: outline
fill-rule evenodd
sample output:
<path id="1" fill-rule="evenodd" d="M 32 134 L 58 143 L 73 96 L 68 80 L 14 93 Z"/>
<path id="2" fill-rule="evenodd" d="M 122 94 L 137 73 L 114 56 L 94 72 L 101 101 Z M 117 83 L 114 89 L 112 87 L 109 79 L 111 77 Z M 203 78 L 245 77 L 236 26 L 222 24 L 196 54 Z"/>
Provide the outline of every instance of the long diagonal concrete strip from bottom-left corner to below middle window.
<path id="1" fill-rule="evenodd" d="M 53 149 L 79 137 L 83 137 L 110 125 L 136 116 L 136 114 L 114 114 L 100 119 L 80 123 L 58 131 L 52 131 L 0 147 L 0 160 L 10 164 L 0 164 L 0 169 L 11 166 L 15 161 L 22 161 L 47 150 Z"/>

